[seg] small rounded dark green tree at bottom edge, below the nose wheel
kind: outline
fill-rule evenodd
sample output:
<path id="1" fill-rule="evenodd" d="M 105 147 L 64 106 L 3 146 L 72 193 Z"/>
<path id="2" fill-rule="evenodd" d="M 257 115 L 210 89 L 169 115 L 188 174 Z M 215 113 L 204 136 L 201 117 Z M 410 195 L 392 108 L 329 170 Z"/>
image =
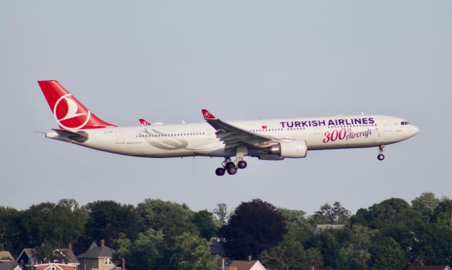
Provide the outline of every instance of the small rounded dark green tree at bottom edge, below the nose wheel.
<path id="1" fill-rule="evenodd" d="M 371 248 L 370 264 L 373 270 L 399 270 L 406 268 L 408 259 L 396 240 L 384 237 Z"/>

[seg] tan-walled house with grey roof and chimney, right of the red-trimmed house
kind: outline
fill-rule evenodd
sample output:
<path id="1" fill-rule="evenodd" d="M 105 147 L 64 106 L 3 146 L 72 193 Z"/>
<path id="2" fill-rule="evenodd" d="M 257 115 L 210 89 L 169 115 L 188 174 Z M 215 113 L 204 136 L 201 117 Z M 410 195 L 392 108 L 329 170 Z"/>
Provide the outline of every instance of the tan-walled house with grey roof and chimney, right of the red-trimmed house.
<path id="1" fill-rule="evenodd" d="M 117 267 L 112 261 L 114 252 L 116 252 L 116 250 L 105 246 L 105 240 L 101 241 L 100 247 L 97 247 L 97 245 L 91 245 L 85 253 L 77 256 L 77 259 L 81 262 L 79 270 L 116 269 Z"/>

